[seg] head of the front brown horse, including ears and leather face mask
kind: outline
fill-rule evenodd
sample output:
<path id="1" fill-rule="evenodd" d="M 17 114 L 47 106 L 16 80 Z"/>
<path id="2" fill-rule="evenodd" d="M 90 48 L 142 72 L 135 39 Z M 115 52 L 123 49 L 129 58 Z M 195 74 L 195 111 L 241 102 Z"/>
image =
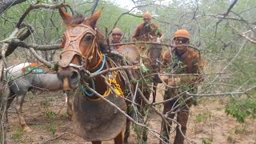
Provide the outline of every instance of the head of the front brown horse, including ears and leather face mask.
<path id="1" fill-rule="evenodd" d="M 90 18 L 84 18 L 82 15 L 71 16 L 62 9 L 59 9 L 59 14 L 67 29 L 62 42 L 62 69 L 58 71 L 58 77 L 63 81 L 63 89 L 70 90 L 78 86 L 83 70 L 90 70 L 90 67 L 97 64 L 94 61 L 100 51 L 97 45 L 96 23 L 102 11 Z"/>

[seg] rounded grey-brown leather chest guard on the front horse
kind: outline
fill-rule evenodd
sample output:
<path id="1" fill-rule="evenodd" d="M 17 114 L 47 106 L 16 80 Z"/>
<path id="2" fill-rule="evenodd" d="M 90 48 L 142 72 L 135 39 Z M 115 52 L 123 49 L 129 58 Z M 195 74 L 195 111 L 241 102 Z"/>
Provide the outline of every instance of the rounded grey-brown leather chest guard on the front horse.
<path id="1" fill-rule="evenodd" d="M 110 94 L 107 99 L 126 112 L 123 98 Z M 126 117 L 110 103 L 90 101 L 84 96 L 74 98 L 74 131 L 87 141 L 115 138 L 124 128 Z"/>

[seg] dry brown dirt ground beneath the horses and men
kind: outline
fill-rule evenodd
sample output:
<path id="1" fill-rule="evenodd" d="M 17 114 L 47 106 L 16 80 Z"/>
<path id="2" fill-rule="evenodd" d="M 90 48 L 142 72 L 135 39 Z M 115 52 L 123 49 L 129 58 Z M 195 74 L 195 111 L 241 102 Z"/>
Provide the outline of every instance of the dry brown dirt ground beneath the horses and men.
<path id="1" fill-rule="evenodd" d="M 158 91 L 157 101 L 162 100 L 161 94 L 162 92 Z M 198 106 L 192 107 L 186 134 L 191 142 L 203 144 L 256 143 L 256 122 L 246 120 L 244 124 L 239 124 L 234 118 L 227 116 L 225 114 L 226 99 L 200 98 Z M 23 115 L 33 132 L 22 131 L 13 102 L 8 114 L 10 126 L 7 132 L 8 143 L 90 143 L 85 142 L 72 132 L 72 122 L 66 114 L 65 97 L 62 92 L 37 95 L 29 93 L 26 95 L 25 101 Z M 162 109 L 162 107 L 158 106 L 158 109 Z M 150 126 L 154 130 L 160 131 L 161 119 L 157 114 L 150 114 Z M 174 138 L 174 134 L 171 134 L 170 137 Z M 133 131 L 130 134 L 129 142 L 138 143 Z M 149 134 L 147 143 L 158 142 L 158 138 Z"/>

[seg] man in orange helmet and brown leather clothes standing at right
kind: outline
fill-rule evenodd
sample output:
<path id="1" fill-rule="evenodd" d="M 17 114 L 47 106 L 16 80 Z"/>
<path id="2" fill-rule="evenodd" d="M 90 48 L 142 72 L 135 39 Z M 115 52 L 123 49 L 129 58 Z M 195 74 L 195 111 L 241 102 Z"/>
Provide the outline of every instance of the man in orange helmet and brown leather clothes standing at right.
<path id="1" fill-rule="evenodd" d="M 177 122 L 181 125 L 176 127 L 176 136 L 174 144 L 184 142 L 183 134 L 186 135 L 186 123 L 189 118 L 190 106 L 194 102 L 189 98 L 185 91 L 194 93 L 197 91 L 198 83 L 202 82 L 202 69 L 204 62 L 201 56 L 194 50 L 190 50 L 190 33 L 187 30 L 177 30 L 174 34 L 174 50 L 168 50 L 163 55 L 163 65 L 170 68 L 171 74 L 187 74 L 186 76 L 172 76 L 163 79 L 169 86 L 178 86 L 178 88 L 166 88 L 164 99 L 174 98 L 166 102 L 163 108 L 163 114 L 173 119 L 177 114 Z M 170 122 L 171 125 L 171 122 Z M 181 130 L 180 130 L 181 129 Z M 161 128 L 162 139 L 169 141 L 170 126 L 162 120 Z M 162 143 L 162 142 L 160 142 Z"/>

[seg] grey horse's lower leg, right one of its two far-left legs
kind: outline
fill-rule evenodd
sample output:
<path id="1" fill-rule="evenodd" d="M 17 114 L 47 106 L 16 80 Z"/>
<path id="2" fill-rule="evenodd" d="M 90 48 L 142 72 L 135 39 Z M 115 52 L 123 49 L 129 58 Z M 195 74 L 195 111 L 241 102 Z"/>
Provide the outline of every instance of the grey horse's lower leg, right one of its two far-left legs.
<path id="1" fill-rule="evenodd" d="M 25 98 L 25 94 L 16 96 L 15 109 L 18 114 L 19 122 L 21 123 L 23 130 L 26 132 L 31 132 L 32 130 L 30 129 L 29 126 L 26 126 L 25 119 L 23 118 L 23 115 L 22 115 L 22 104 L 24 102 L 24 98 Z"/>

